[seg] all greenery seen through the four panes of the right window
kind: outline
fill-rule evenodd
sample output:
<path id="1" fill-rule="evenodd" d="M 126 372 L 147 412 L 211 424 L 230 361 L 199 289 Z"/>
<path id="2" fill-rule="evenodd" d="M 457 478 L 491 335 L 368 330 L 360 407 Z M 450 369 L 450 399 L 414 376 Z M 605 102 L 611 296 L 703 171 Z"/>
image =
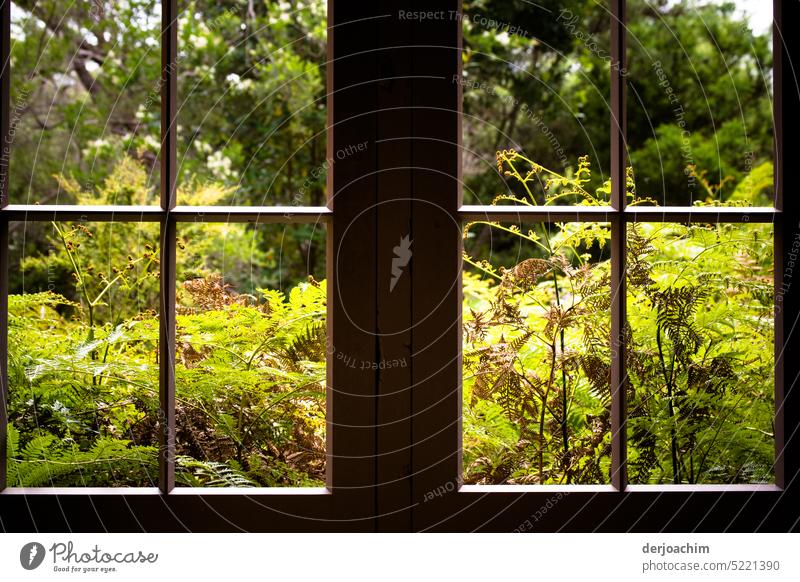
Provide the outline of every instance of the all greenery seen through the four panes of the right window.
<path id="1" fill-rule="evenodd" d="M 607 203 L 609 13 L 536 4 L 465 2 L 465 200 Z M 772 205 L 768 31 L 735 2 L 630 0 L 628 23 L 629 202 Z M 609 236 L 466 226 L 466 482 L 610 482 Z M 772 479 L 771 245 L 770 225 L 630 227 L 632 482 Z"/>

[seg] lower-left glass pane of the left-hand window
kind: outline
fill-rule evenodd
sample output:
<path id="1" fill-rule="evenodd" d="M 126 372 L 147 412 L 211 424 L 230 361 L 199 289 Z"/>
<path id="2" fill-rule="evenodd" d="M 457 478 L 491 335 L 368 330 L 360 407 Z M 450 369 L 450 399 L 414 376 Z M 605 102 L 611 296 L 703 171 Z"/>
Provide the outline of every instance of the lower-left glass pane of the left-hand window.
<path id="1" fill-rule="evenodd" d="M 158 486 L 158 225 L 9 228 L 9 486 Z"/>

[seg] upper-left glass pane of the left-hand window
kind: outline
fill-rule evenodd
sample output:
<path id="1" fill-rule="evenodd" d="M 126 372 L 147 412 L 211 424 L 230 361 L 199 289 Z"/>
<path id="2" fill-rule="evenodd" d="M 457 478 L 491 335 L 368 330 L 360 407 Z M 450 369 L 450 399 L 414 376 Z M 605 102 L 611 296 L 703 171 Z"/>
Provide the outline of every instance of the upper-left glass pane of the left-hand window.
<path id="1" fill-rule="evenodd" d="M 160 37 L 158 0 L 11 3 L 12 204 L 158 203 Z"/>

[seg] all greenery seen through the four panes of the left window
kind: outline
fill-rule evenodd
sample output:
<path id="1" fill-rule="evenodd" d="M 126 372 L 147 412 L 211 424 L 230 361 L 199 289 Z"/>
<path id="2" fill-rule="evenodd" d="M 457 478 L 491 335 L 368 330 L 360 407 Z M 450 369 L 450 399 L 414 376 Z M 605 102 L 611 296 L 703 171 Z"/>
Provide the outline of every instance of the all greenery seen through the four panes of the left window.
<path id="1" fill-rule="evenodd" d="M 13 3 L 12 203 L 158 203 L 159 5 Z M 179 10 L 179 203 L 324 204 L 325 2 Z M 179 483 L 322 483 L 324 231 L 178 236 Z M 158 247 L 11 225 L 12 485 L 155 484 Z"/>

